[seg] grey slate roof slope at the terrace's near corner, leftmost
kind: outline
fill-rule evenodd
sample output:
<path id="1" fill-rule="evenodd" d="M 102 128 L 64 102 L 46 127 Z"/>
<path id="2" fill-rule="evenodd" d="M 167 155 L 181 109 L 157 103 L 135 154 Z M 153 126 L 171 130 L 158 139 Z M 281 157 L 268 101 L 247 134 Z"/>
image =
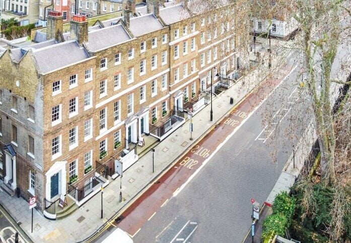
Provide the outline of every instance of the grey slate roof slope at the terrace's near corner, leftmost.
<path id="1" fill-rule="evenodd" d="M 89 58 L 88 53 L 76 40 L 33 50 L 39 72 L 46 73 Z"/>

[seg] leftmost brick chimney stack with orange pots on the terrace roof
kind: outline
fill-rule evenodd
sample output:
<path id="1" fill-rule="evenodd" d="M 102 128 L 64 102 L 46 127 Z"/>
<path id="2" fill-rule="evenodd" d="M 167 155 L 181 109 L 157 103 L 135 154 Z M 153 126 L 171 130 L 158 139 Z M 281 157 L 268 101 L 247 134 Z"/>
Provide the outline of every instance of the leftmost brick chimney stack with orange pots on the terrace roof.
<path id="1" fill-rule="evenodd" d="M 62 32 L 63 21 L 61 13 L 50 11 L 47 17 L 46 40 L 54 39 L 55 41 L 61 42 Z"/>

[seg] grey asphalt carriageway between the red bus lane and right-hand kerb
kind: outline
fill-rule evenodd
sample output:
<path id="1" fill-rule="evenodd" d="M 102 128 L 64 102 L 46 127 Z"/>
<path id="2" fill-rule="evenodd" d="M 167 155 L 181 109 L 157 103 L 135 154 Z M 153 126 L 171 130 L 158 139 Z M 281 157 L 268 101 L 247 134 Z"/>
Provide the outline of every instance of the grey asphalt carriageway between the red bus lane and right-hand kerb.
<path id="1" fill-rule="evenodd" d="M 310 120 L 308 100 L 297 88 L 298 72 L 242 122 L 190 183 L 144 224 L 134 242 L 184 241 L 190 233 L 191 242 L 242 241 L 251 223 L 250 199 L 262 205 Z M 291 121 L 299 123 L 291 126 Z M 197 225 L 192 232 L 186 231 L 190 222 Z"/>

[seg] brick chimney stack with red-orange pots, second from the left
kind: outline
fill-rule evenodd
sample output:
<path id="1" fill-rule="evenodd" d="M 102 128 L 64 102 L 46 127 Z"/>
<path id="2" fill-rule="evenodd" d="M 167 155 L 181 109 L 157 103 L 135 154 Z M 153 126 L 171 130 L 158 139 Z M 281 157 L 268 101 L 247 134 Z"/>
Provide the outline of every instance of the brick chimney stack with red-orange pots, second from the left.
<path id="1" fill-rule="evenodd" d="M 71 39 L 77 39 L 80 45 L 82 45 L 83 42 L 88 42 L 88 21 L 86 16 L 72 16 Z"/>

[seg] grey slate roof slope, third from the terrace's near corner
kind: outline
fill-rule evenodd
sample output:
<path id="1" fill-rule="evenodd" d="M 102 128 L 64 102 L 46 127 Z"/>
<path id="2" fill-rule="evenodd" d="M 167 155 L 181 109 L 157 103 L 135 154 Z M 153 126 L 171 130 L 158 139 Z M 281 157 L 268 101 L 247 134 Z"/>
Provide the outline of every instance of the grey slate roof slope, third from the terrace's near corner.
<path id="1" fill-rule="evenodd" d="M 135 37 L 142 36 L 162 28 L 163 25 L 153 14 L 135 17 L 129 20 L 129 29 Z"/>

